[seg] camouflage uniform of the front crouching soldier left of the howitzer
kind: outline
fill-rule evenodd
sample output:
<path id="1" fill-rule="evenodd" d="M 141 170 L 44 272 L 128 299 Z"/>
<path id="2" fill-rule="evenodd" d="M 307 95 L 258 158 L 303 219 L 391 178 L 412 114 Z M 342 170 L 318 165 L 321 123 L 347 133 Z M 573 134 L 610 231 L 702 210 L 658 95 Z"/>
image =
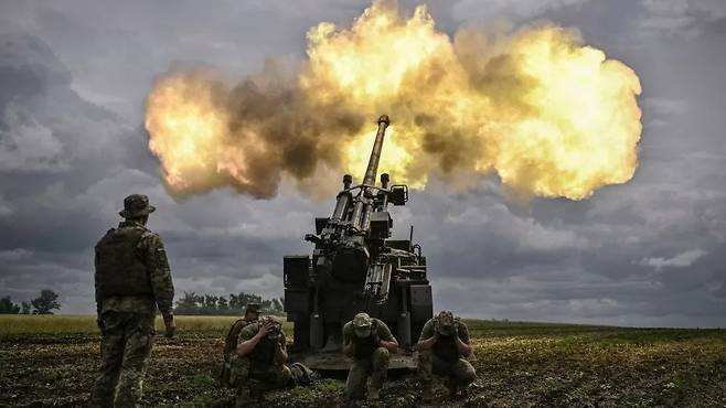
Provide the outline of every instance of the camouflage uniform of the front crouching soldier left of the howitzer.
<path id="1" fill-rule="evenodd" d="M 247 324 L 239 332 L 237 344 L 252 340 L 270 318 L 263 318 Z M 287 350 L 285 332 L 280 328 L 277 339 L 263 337 L 247 355 L 233 353 L 229 358 L 229 384 L 237 389 L 237 406 L 249 402 L 250 393 L 285 388 L 295 384 L 296 378 L 285 362 L 277 361 L 278 348 Z"/>

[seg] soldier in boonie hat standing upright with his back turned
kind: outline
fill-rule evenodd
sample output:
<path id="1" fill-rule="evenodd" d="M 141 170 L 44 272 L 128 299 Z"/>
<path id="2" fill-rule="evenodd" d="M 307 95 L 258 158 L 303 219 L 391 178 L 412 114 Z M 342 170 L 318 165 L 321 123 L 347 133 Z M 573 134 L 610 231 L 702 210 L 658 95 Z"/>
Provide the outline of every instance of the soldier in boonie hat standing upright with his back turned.
<path id="1" fill-rule="evenodd" d="M 159 235 L 146 227 L 156 208 L 149 197 L 124 200 L 125 218 L 96 245 L 95 287 L 103 363 L 92 407 L 137 407 L 153 342 L 157 308 L 167 336 L 177 329 L 174 287 Z"/>

